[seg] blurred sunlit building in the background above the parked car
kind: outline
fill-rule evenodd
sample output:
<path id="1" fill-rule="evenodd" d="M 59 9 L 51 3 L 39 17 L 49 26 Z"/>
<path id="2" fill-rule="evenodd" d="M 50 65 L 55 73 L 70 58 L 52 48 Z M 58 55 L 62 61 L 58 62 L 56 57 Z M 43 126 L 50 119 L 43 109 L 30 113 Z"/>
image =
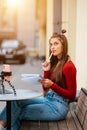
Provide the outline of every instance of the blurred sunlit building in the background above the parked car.
<path id="1" fill-rule="evenodd" d="M 0 0 L 0 40 L 7 38 L 45 56 L 46 0 Z"/>

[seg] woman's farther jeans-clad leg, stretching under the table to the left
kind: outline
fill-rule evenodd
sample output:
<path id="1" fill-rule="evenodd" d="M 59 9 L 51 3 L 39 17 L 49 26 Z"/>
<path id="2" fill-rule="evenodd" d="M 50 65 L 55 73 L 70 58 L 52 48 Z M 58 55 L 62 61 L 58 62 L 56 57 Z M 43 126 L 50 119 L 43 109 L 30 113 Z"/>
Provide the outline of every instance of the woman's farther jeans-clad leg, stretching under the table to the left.
<path id="1" fill-rule="evenodd" d="M 42 98 L 43 99 L 43 98 Z M 16 130 L 18 129 L 17 126 L 20 126 L 19 121 L 19 115 L 22 111 L 22 108 L 29 105 L 29 104 L 35 104 L 35 103 L 41 103 L 43 102 L 41 98 L 34 98 L 29 100 L 23 100 L 23 101 L 13 101 L 11 102 L 11 126 L 12 130 L 16 127 Z M 6 107 L 3 109 L 3 111 L 0 113 L 0 124 L 4 127 L 6 126 Z M 13 127 L 14 126 L 14 127 Z M 14 129 L 15 130 L 15 129 Z"/>

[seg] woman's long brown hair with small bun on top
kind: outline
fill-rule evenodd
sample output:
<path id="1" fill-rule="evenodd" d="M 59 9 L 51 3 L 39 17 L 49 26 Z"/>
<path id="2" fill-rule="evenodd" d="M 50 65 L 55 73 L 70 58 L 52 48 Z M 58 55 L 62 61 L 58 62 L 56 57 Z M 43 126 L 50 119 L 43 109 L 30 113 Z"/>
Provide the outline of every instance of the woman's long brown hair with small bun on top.
<path id="1" fill-rule="evenodd" d="M 66 30 L 62 30 L 62 34 L 58 33 L 53 33 L 50 40 L 52 38 L 57 38 L 58 40 L 61 41 L 63 45 L 63 53 L 62 53 L 62 58 L 58 59 L 57 56 L 52 55 L 50 62 L 51 62 L 51 71 L 54 71 L 54 78 L 57 83 L 59 83 L 62 87 L 65 87 L 63 84 L 63 79 L 62 79 L 62 68 L 64 64 L 68 61 L 69 56 L 68 56 L 68 41 L 64 33 Z"/>

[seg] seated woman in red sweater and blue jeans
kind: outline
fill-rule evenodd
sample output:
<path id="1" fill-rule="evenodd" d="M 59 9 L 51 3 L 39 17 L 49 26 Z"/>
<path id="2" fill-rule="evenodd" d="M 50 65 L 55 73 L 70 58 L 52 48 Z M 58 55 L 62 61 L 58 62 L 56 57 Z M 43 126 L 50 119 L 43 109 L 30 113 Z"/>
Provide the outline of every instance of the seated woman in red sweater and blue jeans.
<path id="1" fill-rule="evenodd" d="M 67 38 L 54 33 L 49 40 L 51 59 L 42 64 L 44 96 L 12 102 L 12 130 L 20 129 L 20 120 L 62 120 L 68 113 L 68 101 L 76 95 L 76 68 L 68 55 Z M 0 130 L 6 127 L 6 108 L 0 114 Z"/>

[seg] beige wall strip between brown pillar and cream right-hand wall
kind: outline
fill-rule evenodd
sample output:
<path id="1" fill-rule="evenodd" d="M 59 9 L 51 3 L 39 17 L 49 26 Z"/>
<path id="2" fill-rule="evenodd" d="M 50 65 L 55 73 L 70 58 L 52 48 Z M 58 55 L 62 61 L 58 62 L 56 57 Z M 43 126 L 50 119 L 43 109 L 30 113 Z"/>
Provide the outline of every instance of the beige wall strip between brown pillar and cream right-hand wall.
<path id="1" fill-rule="evenodd" d="M 62 0 L 62 28 L 67 30 L 69 55 L 75 63 L 76 48 L 76 0 Z"/>

